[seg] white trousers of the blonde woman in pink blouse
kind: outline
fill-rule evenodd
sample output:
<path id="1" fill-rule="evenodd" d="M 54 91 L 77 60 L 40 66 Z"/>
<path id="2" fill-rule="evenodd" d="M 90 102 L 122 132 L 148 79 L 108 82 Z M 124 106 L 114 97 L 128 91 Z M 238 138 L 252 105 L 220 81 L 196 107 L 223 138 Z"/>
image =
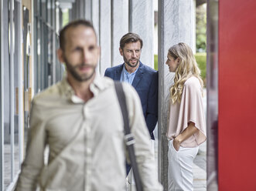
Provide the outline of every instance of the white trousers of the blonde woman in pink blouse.
<path id="1" fill-rule="evenodd" d="M 179 151 L 176 151 L 172 140 L 168 142 L 168 146 L 168 190 L 193 190 L 193 159 L 195 159 L 199 147 L 185 148 L 180 146 Z"/>

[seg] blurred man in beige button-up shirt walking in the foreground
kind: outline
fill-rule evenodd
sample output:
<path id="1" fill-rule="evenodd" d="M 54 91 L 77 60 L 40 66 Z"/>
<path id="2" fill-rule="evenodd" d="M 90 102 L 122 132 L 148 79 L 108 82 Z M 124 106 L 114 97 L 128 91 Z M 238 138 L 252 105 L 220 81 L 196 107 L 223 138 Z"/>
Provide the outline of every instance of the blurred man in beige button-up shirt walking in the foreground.
<path id="1" fill-rule="evenodd" d="M 125 190 L 124 123 L 114 82 L 95 73 L 100 48 L 90 22 L 60 32 L 67 77 L 32 101 L 26 159 L 16 190 Z M 162 190 L 138 95 L 124 84 L 144 190 Z M 44 165 L 44 150 L 49 161 Z"/>

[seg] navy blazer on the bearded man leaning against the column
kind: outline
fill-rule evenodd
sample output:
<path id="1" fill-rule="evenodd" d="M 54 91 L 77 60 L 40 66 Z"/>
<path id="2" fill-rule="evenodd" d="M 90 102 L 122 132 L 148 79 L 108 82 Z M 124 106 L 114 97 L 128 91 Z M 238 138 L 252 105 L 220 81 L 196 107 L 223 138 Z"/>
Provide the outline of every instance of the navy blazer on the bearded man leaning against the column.
<path id="1" fill-rule="evenodd" d="M 124 65 L 125 63 L 108 68 L 104 75 L 116 81 L 120 81 L 121 71 Z M 159 72 L 139 62 L 138 71 L 131 85 L 138 92 L 142 102 L 142 110 L 148 131 L 151 138 L 155 139 L 153 131 L 158 119 Z"/>

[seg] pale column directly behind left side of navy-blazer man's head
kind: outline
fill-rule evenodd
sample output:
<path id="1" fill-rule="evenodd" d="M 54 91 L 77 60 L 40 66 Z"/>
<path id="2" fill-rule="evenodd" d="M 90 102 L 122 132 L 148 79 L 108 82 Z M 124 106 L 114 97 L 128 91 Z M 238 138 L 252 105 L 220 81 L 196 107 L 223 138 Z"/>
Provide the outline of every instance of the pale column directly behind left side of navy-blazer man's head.
<path id="1" fill-rule="evenodd" d="M 119 53 L 119 42 L 128 32 L 128 0 L 111 1 L 111 66 L 124 62 Z"/>

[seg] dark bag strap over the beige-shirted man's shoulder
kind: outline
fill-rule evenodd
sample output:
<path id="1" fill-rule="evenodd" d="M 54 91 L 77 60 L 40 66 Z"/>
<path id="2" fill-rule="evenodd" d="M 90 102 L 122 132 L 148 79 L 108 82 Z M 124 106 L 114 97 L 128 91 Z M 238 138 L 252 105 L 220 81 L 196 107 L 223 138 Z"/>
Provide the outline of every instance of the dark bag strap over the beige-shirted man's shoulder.
<path id="1" fill-rule="evenodd" d="M 121 113 L 122 113 L 124 124 L 125 124 L 125 145 L 128 149 L 128 154 L 129 154 L 129 158 L 131 161 L 131 167 L 133 170 L 133 174 L 135 176 L 136 189 L 137 189 L 137 191 L 143 191 L 142 181 L 141 181 L 141 178 L 138 173 L 138 166 L 137 166 L 136 158 L 135 158 L 135 149 L 133 147 L 133 145 L 135 144 L 135 139 L 130 132 L 125 92 L 124 92 L 121 82 L 114 82 L 114 88 L 118 95 L 118 102 L 121 107 Z"/>

